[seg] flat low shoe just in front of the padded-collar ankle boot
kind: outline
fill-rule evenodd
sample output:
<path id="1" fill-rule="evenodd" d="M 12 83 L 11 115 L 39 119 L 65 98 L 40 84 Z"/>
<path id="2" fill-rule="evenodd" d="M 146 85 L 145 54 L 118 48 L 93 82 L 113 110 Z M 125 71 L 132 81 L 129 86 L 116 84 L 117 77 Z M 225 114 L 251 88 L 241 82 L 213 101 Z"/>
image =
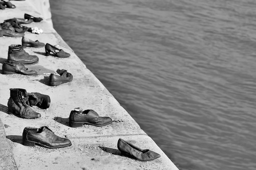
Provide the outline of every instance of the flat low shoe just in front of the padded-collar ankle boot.
<path id="1" fill-rule="evenodd" d="M 37 72 L 34 70 L 29 70 L 23 64 L 16 64 L 16 63 L 8 63 L 4 62 L 2 66 L 2 73 L 3 74 L 23 74 L 23 75 L 36 75 Z"/>

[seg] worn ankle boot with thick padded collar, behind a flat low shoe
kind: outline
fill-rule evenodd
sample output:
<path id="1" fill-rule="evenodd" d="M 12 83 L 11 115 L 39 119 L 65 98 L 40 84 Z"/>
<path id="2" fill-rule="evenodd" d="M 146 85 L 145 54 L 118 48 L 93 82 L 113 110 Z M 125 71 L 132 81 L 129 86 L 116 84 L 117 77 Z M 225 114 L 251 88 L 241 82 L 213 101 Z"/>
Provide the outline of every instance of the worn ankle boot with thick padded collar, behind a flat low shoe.
<path id="1" fill-rule="evenodd" d="M 36 64 L 38 62 L 38 57 L 36 55 L 29 55 L 24 51 L 22 45 L 10 45 L 7 60 L 9 63 L 29 65 Z"/>

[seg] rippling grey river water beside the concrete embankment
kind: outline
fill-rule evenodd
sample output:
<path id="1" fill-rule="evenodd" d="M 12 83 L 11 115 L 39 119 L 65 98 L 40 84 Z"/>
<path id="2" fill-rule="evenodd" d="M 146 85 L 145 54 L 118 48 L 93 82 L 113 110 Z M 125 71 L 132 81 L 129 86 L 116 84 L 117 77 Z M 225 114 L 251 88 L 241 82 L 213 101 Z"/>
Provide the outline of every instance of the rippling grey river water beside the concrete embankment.
<path id="1" fill-rule="evenodd" d="M 54 28 L 180 170 L 256 170 L 255 0 L 51 0 Z"/>

